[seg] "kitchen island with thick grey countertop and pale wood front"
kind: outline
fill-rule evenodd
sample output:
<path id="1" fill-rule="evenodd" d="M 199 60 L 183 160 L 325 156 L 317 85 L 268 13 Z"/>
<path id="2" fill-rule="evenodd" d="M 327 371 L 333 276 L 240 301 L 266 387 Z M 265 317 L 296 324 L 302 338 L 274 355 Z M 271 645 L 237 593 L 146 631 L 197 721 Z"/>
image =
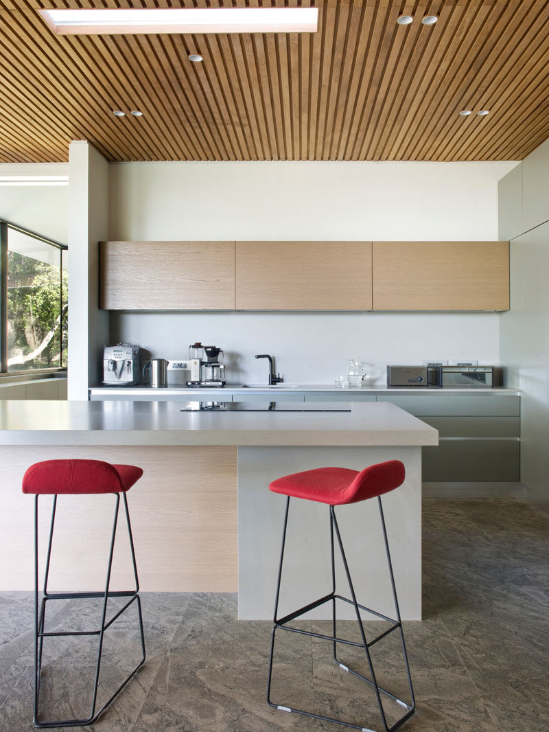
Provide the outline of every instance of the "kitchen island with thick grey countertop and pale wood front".
<path id="1" fill-rule="evenodd" d="M 283 498 L 269 492 L 269 482 L 313 467 L 359 470 L 396 458 L 406 466 L 406 482 L 384 498 L 389 540 L 403 617 L 421 617 L 421 447 L 437 444 L 436 429 L 392 403 L 290 412 L 277 402 L 266 411 L 223 413 L 182 411 L 184 406 L 160 401 L 0 402 L 0 590 L 32 586 L 33 501 L 20 493 L 20 485 L 26 468 L 37 460 L 94 458 L 141 466 L 145 473 L 130 492 L 130 512 L 143 591 L 238 589 L 239 616 L 263 619 L 272 612 L 284 508 Z M 41 500 L 46 505 L 49 499 Z M 59 551 L 60 559 L 51 576 L 53 588 L 81 586 L 81 578 L 70 574 L 71 563 L 61 559 L 67 553 L 89 559 L 86 581 L 100 582 L 94 557 L 107 539 L 108 521 L 99 504 L 111 500 L 67 496 L 57 520 L 53 551 Z M 301 585 L 300 602 L 305 602 L 304 587 L 313 597 L 329 581 L 323 561 L 329 559 L 328 512 L 322 504 L 294 504 L 288 567 Z M 357 566 L 355 572 L 365 580 L 359 590 L 367 585 L 386 594 L 384 572 L 378 569 L 383 548 L 376 506 L 353 504 L 340 507 L 339 513 L 351 569 Z M 82 516 L 89 531 L 75 542 L 70 523 Z M 45 534 L 46 511 L 42 518 Z M 129 556 L 123 542 L 118 548 L 124 561 L 116 564 L 113 581 L 120 585 Z M 313 569 L 307 569 L 307 556 Z M 288 594 L 283 607 L 295 600 Z"/>

